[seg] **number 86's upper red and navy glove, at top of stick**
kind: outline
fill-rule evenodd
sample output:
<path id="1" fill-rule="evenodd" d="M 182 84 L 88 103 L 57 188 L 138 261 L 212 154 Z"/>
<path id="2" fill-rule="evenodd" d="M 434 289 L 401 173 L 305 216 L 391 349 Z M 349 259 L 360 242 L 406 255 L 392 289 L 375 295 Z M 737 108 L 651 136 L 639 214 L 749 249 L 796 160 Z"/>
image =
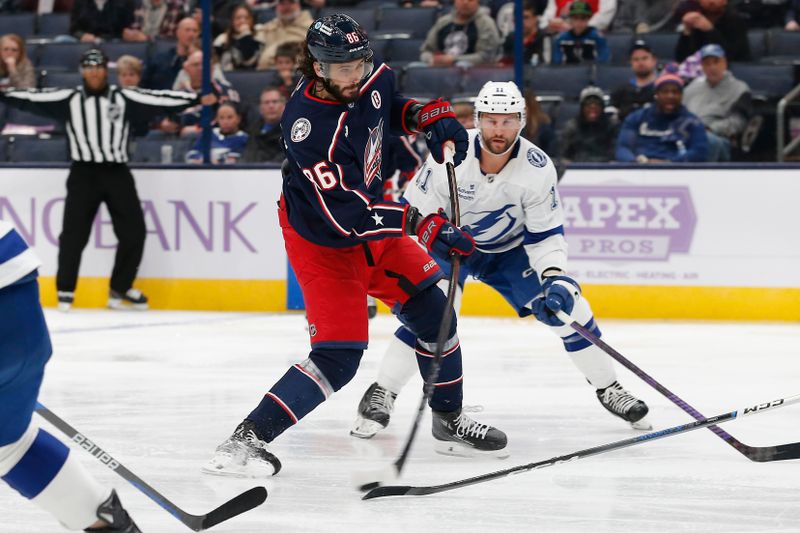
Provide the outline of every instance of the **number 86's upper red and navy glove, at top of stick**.
<path id="1" fill-rule="evenodd" d="M 431 100 L 419 111 L 417 127 L 425 132 L 425 142 L 431 151 L 433 159 L 440 165 L 444 163 L 444 145 L 450 141 L 455 145 L 456 153 L 453 155 L 453 164 L 458 166 L 467 155 L 469 136 L 464 126 L 456 120 L 453 106 L 450 102 Z"/>

